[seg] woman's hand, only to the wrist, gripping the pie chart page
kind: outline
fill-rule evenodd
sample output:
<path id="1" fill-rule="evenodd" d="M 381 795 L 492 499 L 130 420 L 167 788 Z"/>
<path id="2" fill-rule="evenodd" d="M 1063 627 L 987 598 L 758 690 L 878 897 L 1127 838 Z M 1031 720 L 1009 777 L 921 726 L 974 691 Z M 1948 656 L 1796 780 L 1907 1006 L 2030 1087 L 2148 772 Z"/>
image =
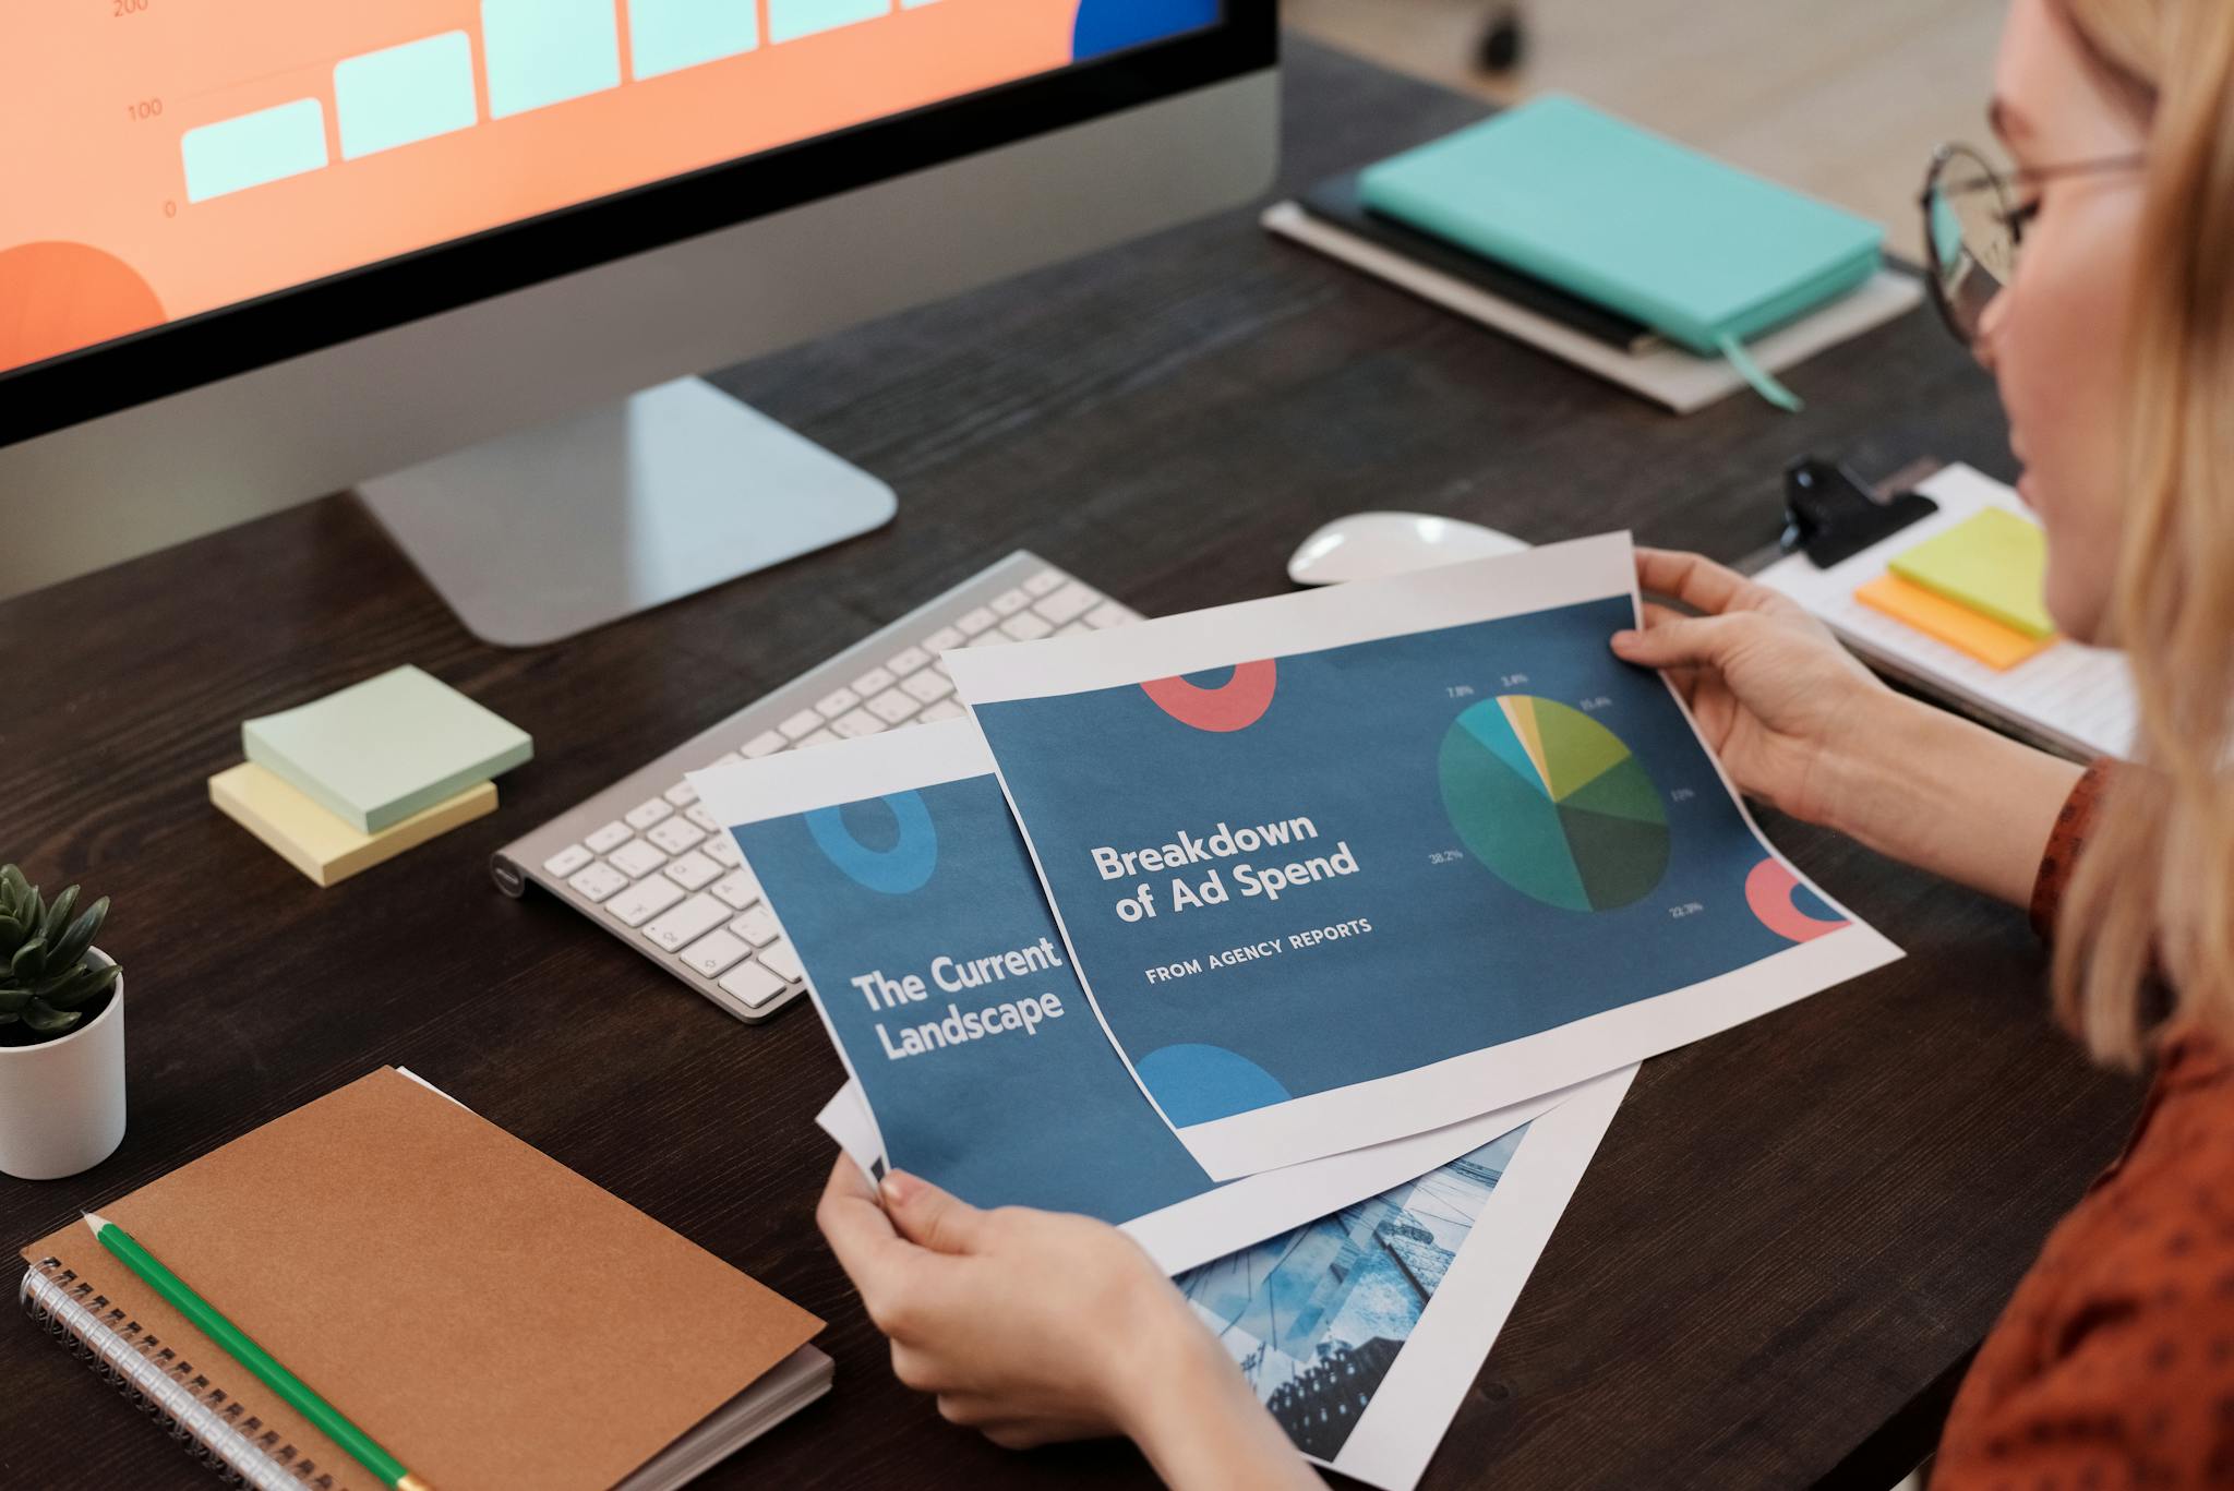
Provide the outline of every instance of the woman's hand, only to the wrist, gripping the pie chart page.
<path id="1" fill-rule="evenodd" d="M 1885 688 L 1798 604 L 1698 554 L 1638 550 L 1638 583 L 1705 615 L 1646 601 L 1644 630 L 1615 633 L 1624 662 L 1664 668 L 1738 787 L 1794 818 L 1856 818 L 1845 758 L 1894 711 Z"/>

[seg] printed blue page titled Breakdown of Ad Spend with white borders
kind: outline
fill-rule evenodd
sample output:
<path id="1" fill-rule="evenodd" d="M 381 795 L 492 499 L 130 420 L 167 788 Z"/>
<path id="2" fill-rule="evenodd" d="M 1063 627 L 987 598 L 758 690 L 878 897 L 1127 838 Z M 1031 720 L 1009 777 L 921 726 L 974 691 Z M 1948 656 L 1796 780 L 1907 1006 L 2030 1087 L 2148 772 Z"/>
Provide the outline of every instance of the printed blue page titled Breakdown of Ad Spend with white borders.
<path id="1" fill-rule="evenodd" d="M 1633 563 L 1615 534 L 949 657 L 1097 1013 L 1213 1176 L 1897 957 L 1613 657 Z"/>

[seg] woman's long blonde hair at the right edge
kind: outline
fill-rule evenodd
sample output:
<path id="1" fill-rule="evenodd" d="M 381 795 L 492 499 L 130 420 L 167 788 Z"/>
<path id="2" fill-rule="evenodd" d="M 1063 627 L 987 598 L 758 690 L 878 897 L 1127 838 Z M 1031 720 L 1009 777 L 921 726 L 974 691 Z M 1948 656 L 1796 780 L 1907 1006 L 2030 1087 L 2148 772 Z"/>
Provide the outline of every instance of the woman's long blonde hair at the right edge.
<path id="1" fill-rule="evenodd" d="M 2142 771 L 2111 780 L 2073 872 L 2055 1013 L 2133 1066 L 2167 1015 L 2234 1042 L 2234 2 L 2060 0 L 2149 118 L 2125 525 L 2109 642 L 2140 693 Z"/>

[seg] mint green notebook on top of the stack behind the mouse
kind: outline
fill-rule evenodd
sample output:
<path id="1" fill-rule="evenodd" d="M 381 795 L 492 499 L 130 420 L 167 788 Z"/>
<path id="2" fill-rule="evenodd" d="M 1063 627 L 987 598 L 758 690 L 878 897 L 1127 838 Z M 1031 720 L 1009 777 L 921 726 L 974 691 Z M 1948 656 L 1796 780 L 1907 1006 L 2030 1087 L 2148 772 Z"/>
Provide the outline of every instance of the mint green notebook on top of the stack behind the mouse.
<path id="1" fill-rule="evenodd" d="M 1747 338 L 1870 279 L 1885 237 L 1559 94 L 1369 165 L 1358 190 L 1374 212 L 1740 369 Z"/>

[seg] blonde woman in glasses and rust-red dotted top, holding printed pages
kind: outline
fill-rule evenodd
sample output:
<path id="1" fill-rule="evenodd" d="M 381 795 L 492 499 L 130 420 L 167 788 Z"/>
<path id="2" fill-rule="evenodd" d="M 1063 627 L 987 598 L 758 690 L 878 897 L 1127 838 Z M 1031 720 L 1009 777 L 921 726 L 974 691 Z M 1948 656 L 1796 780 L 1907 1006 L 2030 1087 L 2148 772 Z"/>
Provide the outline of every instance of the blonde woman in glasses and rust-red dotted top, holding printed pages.
<path id="1" fill-rule="evenodd" d="M 2064 633 L 2131 655 L 2140 762 L 2053 760 L 1879 686 L 1805 615 L 1642 554 L 1613 637 L 1738 782 L 2028 905 L 2051 1006 L 2154 1062 L 2127 1153 L 2058 1225 L 1955 1402 L 1935 1487 L 2234 1484 L 2234 0 L 2013 0 L 1990 121 L 1926 194 L 1950 326 L 1995 376 Z M 1001 1444 L 1133 1435 L 1182 1487 L 1309 1471 L 1117 1232 L 974 1212 L 840 1160 L 822 1229 L 903 1381 Z"/>

